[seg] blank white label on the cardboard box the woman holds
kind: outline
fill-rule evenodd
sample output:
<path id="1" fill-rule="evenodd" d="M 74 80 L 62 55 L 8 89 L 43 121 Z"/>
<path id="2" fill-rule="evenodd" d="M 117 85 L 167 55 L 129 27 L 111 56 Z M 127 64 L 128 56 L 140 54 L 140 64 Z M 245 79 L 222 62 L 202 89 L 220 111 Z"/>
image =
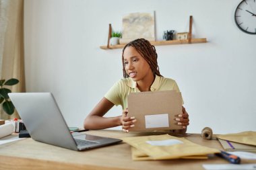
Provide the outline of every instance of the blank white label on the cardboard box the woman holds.
<path id="1" fill-rule="evenodd" d="M 168 114 L 153 114 L 145 116 L 146 128 L 166 128 L 169 127 Z"/>

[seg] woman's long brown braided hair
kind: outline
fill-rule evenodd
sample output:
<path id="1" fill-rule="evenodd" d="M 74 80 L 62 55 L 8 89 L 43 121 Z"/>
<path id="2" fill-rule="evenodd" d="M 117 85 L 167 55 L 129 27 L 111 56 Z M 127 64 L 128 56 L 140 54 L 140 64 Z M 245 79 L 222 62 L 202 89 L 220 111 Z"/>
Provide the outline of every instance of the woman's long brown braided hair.
<path id="1" fill-rule="evenodd" d="M 150 65 L 150 69 L 152 70 L 154 75 L 158 75 L 162 77 L 162 75 L 160 75 L 160 72 L 159 72 L 158 60 L 157 60 L 158 54 L 156 53 L 155 46 L 151 45 L 148 40 L 139 38 L 137 40 L 133 40 L 128 44 L 126 44 L 125 47 L 123 48 L 123 53 L 125 52 L 125 48 L 129 46 L 132 46 L 133 48 L 135 48 L 135 50 L 139 52 L 139 54 L 148 62 L 148 64 Z M 122 54 L 122 62 L 123 62 L 123 77 L 128 78 L 129 75 L 127 75 L 125 71 L 125 62 L 124 62 L 123 54 Z"/>

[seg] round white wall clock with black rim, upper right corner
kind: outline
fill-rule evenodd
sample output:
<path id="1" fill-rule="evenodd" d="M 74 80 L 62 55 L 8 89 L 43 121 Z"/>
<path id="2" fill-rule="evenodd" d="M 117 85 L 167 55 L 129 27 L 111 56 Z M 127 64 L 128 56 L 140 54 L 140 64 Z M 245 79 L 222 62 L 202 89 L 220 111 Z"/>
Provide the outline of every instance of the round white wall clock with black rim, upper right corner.
<path id="1" fill-rule="evenodd" d="M 234 13 L 236 26 L 247 34 L 256 34 L 256 2 L 244 0 L 236 7 Z"/>

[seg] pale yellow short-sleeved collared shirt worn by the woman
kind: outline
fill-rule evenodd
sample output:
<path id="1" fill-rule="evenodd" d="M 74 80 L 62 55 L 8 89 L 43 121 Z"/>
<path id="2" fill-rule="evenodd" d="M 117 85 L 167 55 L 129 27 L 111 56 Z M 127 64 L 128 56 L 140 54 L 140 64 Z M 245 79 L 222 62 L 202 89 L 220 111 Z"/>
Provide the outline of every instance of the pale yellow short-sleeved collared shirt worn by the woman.
<path id="1" fill-rule="evenodd" d="M 180 92 L 179 87 L 173 79 L 165 77 L 159 77 L 156 75 L 154 82 L 150 87 L 150 91 L 164 91 L 164 90 L 176 90 Z M 114 103 L 115 105 L 122 105 L 123 110 L 127 107 L 127 99 L 129 93 L 140 92 L 137 88 L 137 83 L 130 77 L 117 81 L 104 95 L 106 99 Z"/>

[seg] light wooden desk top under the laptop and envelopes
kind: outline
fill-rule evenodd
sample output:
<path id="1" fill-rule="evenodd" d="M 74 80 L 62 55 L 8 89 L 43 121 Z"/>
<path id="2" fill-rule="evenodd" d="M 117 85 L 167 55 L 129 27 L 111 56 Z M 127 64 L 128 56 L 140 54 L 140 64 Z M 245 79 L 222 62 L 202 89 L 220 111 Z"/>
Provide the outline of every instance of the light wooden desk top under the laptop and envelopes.
<path id="1" fill-rule="evenodd" d="M 113 138 L 149 134 L 124 133 L 117 130 L 92 130 L 85 133 Z M 203 140 L 199 134 L 189 134 L 186 138 L 203 146 L 222 149 L 218 140 Z M 213 163 L 228 162 L 218 157 L 207 160 L 133 161 L 131 148 L 124 142 L 80 152 L 36 142 L 31 138 L 0 145 L 0 169 L 198 170 L 203 169 L 203 164 Z M 256 161 L 242 160 L 242 163 L 256 163 Z"/>

